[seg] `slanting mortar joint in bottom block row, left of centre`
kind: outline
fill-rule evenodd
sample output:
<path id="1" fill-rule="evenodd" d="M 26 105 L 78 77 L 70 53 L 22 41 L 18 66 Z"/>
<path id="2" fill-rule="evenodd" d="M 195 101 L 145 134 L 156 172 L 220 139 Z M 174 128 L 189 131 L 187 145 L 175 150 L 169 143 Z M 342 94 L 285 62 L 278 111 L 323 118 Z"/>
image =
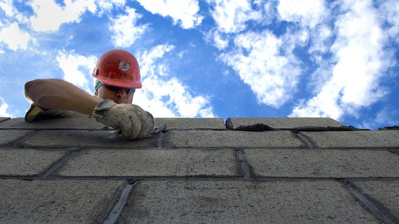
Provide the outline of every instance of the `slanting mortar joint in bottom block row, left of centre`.
<path id="1" fill-rule="evenodd" d="M 138 181 L 134 181 L 133 183 L 128 183 L 120 193 L 119 200 L 112 208 L 111 212 L 109 212 L 107 218 L 104 220 L 104 224 L 114 224 L 118 221 L 120 214 L 126 204 L 127 198 L 132 193 L 134 188 L 138 185 Z"/>

